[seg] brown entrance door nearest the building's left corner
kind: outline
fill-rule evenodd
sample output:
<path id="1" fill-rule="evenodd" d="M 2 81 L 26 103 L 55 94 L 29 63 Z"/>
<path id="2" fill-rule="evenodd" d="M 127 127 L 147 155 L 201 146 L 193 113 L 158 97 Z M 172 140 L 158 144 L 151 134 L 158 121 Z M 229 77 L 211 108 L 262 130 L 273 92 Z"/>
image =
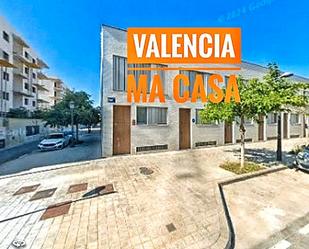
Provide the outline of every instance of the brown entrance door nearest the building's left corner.
<path id="1" fill-rule="evenodd" d="M 113 155 L 130 154 L 131 149 L 131 108 L 113 107 Z"/>

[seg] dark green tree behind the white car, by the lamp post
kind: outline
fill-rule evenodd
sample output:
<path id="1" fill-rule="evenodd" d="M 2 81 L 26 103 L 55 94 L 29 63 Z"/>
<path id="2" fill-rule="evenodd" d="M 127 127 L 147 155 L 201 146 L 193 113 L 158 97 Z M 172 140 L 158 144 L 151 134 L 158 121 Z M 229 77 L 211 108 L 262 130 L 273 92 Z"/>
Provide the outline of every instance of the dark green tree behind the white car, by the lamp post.
<path id="1" fill-rule="evenodd" d="M 93 101 L 90 99 L 90 95 L 86 92 L 67 90 L 63 96 L 63 99 L 52 109 L 43 114 L 43 120 L 46 121 L 46 125 L 51 125 L 53 127 L 70 125 L 71 101 L 74 102 L 73 120 L 74 125 L 76 126 L 76 140 L 78 141 L 79 124 L 88 125 L 94 120 L 92 115 L 96 115 L 96 112 L 92 106 Z M 91 122 L 89 120 L 91 120 Z"/>

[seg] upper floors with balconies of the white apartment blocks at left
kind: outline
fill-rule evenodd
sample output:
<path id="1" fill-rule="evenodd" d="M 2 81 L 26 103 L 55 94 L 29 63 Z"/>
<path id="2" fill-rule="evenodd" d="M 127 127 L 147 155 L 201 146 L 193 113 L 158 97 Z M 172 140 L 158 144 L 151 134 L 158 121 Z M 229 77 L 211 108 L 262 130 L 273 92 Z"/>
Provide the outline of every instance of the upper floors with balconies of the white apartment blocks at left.
<path id="1" fill-rule="evenodd" d="M 0 113 L 50 108 L 61 100 L 63 82 L 43 73 L 48 65 L 1 16 L 0 32 Z"/>

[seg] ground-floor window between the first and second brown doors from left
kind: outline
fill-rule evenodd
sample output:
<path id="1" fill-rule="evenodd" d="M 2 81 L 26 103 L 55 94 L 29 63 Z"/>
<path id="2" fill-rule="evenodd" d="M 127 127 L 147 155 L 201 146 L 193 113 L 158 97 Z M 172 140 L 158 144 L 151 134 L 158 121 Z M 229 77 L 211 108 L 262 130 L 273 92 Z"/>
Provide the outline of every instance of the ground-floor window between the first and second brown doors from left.
<path id="1" fill-rule="evenodd" d="M 167 108 L 137 107 L 137 124 L 157 125 L 167 124 Z"/>

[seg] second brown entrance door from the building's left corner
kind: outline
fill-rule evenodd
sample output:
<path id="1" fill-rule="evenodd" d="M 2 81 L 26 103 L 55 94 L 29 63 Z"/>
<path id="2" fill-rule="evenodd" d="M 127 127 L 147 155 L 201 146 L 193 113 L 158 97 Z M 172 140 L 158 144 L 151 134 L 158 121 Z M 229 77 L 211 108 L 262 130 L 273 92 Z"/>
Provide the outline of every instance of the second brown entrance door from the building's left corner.
<path id="1" fill-rule="evenodd" d="M 179 149 L 191 148 L 190 122 L 191 110 L 179 109 Z"/>

